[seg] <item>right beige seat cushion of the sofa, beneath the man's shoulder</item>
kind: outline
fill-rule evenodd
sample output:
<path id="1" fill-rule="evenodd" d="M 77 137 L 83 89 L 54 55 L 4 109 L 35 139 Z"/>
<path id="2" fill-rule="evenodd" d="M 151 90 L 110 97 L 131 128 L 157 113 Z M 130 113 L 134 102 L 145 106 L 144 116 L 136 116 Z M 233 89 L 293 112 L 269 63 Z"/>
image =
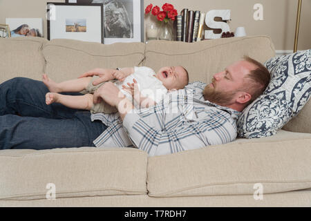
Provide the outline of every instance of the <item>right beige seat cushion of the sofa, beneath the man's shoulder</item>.
<path id="1" fill-rule="evenodd" d="M 261 139 L 258 139 L 261 140 Z M 149 157 L 147 188 L 153 197 L 253 195 L 311 187 L 311 137 L 222 144 Z"/>

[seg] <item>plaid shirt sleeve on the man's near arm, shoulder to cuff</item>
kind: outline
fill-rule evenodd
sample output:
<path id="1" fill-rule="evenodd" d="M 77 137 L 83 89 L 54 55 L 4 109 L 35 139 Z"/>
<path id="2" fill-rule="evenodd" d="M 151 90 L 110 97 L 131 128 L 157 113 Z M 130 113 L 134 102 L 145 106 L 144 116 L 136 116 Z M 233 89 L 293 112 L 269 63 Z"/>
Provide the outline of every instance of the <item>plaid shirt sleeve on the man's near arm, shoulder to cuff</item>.
<path id="1" fill-rule="evenodd" d="M 167 114 L 169 115 L 169 114 Z M 156 126 L 157 120 L 164 115 L 158 115 L 152 121 L 142 118 L 137 113 L 129 112 L 123 119 L 123 126 L 131 142 L 146 151 L 149 156 L 167 155 L 180 151 L 187 151 L 215 144 L 232 142 L 236 138 L 236 130 L 229 122 L 221 122 L 211 128 L 211 122 L 185 122 L 179 117 L 171 120 L 169 126 Z"/>

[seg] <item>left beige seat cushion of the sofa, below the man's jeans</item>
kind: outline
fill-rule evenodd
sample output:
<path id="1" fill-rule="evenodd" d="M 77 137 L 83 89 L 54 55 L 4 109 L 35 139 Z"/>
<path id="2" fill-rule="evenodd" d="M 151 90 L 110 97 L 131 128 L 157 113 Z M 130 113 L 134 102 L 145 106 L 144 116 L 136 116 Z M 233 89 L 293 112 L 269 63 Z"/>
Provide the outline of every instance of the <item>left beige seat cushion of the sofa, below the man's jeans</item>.
<path id="1" fill-rule="evenodd" d="M 0 200 L 146 194 L 147 153 L 136 148 L 0 151 Z"/>

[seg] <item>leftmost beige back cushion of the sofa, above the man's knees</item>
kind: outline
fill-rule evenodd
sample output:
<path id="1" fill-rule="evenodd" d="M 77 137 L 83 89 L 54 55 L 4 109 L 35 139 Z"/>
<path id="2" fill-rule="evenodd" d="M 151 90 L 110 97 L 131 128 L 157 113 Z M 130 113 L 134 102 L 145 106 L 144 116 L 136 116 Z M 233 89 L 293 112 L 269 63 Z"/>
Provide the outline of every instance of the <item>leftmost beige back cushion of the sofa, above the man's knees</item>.
<path id="1" fill-rule="evenodd" d="M 41 79 L 45 61 L 41 37 L 0 38 L 0 83 L 12 77 Z"/>

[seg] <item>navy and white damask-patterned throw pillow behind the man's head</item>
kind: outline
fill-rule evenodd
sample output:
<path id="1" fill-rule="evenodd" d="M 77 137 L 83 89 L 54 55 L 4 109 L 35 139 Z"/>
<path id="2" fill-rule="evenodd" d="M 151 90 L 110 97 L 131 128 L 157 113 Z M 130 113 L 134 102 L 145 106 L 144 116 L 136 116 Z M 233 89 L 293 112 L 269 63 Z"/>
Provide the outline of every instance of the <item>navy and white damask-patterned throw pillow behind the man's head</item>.
<path id="1" fill-rule="evenodd" d="M 271 73 L 270 84 L 238 119 L 239 137 L 274 135 L 310 99 L 311 49 L 274 57 L 265 66 Z"/>

